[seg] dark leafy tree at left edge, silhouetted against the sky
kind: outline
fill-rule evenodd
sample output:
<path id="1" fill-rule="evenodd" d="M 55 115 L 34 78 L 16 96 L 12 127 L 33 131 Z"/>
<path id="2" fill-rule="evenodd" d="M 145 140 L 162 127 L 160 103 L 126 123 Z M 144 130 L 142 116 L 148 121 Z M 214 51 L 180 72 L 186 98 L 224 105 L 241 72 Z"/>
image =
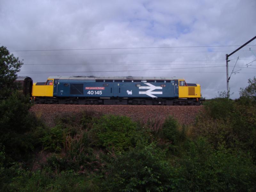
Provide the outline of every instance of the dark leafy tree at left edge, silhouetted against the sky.
<path id="1" fill-rule="evenodd" d="M 17 79 L 16 73 L 22 65 L 23 62 L 10 54 L 6 47 L 0 47 L 0 98 L 10 95 L 11 87 Z"/>

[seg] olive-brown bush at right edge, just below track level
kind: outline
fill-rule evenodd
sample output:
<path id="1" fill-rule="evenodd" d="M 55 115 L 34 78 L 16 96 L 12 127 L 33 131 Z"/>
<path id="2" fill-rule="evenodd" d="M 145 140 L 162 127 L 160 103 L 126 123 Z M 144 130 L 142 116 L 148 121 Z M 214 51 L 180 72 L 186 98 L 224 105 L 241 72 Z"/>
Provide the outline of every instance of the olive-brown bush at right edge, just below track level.
<path id="1" fill-rule="evenodd" d="M 208 101 L 192 129 L 194 138 L 203 136 L 214 148 L 242 149 L 256 162 L 256 108 L 240 100 L 218 98 Z"/>

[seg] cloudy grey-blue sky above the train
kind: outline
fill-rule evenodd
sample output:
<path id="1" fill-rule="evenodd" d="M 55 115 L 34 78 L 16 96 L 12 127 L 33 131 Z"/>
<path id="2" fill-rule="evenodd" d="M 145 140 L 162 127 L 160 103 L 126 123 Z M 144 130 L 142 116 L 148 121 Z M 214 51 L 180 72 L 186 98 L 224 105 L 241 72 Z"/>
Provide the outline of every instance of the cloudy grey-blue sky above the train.
<path id="1" fill-rule="evenodd" d="M 255 0 L 0 1 L 0 46 L 23 60 L 19 75 L 34 82 L 175 76 L 201 84 L 210 99 L 226 90 L 225 55 L 254 36 Z M 256 40 L 229 59 L 238 98 L 256 74 Z"/>

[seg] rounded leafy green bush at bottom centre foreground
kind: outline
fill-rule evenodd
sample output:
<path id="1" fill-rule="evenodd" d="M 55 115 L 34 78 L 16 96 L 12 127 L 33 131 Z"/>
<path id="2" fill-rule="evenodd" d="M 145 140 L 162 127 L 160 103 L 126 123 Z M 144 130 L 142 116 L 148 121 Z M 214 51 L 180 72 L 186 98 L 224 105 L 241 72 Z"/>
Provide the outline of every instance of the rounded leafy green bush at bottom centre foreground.
<path id="1" fill-rule="evenodd" d="M 119 154 L 108 165 L 106 191 L 170 191 L 165 153 L 152 143 Z"/>

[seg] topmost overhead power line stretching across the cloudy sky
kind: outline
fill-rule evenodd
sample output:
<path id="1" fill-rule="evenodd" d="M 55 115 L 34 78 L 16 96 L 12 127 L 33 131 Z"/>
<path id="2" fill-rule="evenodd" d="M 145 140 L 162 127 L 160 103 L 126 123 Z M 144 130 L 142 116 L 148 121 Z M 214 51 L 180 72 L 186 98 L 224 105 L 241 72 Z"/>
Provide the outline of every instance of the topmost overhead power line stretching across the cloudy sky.
<path id="1" fill-rule="evenodd" d="M 214 45 L 214 46 L 177 46 L 177 47 L 124 47 L 124 48 L 88 48 L 88 49 L 44 49 L 44 50 L 12 50 L 10 52 L 28 51 L 77 51 L 77 50 L 109 50 L 109 49 L 155 49 L 155 48 L 196 48 L 196 47 L 235 47 L 241 45 Z M 248 45 L 252 46 L 252 45 Z"/>

